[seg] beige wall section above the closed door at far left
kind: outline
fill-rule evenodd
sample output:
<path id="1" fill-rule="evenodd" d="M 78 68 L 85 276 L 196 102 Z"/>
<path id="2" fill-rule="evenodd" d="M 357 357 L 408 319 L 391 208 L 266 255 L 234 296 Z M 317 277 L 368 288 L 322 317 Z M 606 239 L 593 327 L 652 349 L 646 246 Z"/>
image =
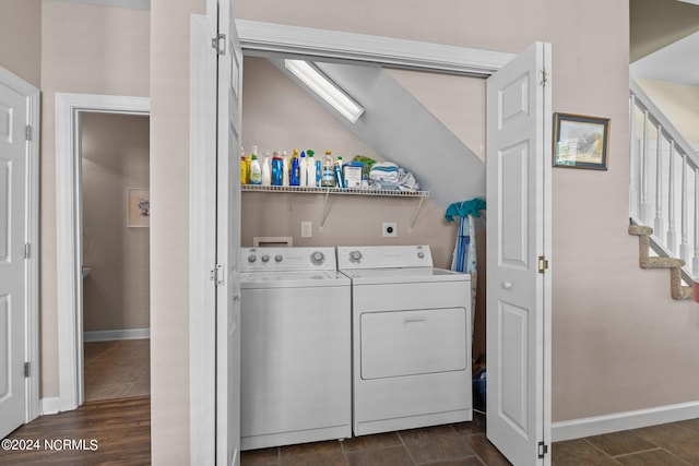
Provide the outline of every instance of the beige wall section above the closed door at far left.
<path id="1" fill-rule="evenodd" d="M 42 75 L 42 0 L 2 0 L 0 67 L 39 87 Z"/>

